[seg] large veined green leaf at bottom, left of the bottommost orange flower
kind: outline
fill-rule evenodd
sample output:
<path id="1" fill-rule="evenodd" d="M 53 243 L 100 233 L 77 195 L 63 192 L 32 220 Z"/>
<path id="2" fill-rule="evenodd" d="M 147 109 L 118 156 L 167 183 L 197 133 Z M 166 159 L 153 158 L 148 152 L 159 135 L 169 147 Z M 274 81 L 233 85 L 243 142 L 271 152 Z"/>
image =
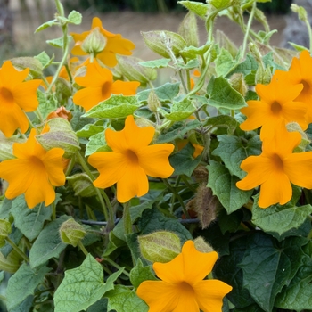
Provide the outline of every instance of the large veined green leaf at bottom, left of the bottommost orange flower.
<path id="1" fill-rule="evenodd" d="M 62 283 L 55 291 L 55 312 L 77 312 L 86 310 L 100 300 L 106 291 L 114 289 L 114 281 L 123 268 L 103 282 L 103 268 L 90 254 L 81 266 L 65 271 Z"/>

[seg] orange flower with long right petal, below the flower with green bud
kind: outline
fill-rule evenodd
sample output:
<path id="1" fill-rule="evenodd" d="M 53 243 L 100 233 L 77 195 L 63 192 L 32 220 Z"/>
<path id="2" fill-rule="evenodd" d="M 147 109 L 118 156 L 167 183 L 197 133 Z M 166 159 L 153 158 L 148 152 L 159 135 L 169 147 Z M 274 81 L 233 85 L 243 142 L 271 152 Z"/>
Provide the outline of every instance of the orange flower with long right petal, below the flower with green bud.
<path id="1" fill-rule="evenodd" d="M 134 95 L 140 86 L 138 81 L 113 81 L 111 70 L 102 68 L 98 62 L 86 65 L 86 76 L 75 78 L 79 86 L 85 86 L 73 96 L 73 102 L 86 111 L 108 99 L 111 94 Z"/>

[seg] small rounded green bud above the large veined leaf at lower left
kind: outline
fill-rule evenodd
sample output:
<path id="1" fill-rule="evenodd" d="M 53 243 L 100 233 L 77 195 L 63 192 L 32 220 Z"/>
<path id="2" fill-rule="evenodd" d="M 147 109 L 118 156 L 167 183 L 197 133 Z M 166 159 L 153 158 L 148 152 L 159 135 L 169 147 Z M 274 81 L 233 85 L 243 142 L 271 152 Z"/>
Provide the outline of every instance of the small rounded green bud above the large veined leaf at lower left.
<path id="1" fill-rule="evenodd" d="M 73 218 L 63 222 L 59 231 L 62 242 L 74 247 L 77 247 L 78 243 L 86 236 L 84 227 L 79 225 Z"/>

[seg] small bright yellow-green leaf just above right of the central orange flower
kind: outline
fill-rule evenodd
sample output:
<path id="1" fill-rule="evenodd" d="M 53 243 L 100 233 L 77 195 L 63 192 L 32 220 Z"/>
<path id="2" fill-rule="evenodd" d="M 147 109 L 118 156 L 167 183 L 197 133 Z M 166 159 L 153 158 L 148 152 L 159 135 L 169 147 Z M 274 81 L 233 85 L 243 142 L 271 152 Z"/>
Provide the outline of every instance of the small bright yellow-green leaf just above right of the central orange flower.
<path id="1" fill-rule="evenodd" d="M 190 117 L 193 111 L 195 111 L 195 107 L 189 98 L 185 98 L 181 102 L 174 101 L 169 113 L 160 108 L 158 111 L 169 120 L 181 121 Z"/>

